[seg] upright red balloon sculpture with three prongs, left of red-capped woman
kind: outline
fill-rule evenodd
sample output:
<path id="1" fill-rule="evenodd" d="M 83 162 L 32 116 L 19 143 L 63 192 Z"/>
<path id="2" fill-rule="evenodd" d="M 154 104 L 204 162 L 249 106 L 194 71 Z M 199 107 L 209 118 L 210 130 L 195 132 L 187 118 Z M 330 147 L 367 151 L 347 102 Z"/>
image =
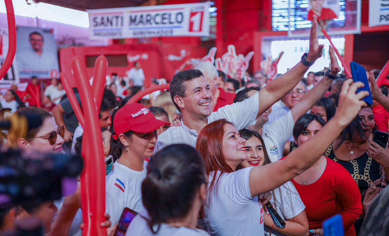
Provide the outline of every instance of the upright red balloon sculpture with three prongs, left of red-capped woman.
<path id="1" fill-rule="evenodd" d="M 105 221 L 105 163 L 103 139 L 98 120 L 107 74 L 107 58 L 96 59 L 93 83 L 90 85 L 84 62 L 73 57 L 72 69 L 81 99 L 82 110 L 70 86 L 70 80 L 61 72 L 70 104 L 77 119 L 84 128 L 81 156 L 84 159 L 84 171 L 81 174 L 82 218 L 85 228 L 82 235 L 106 235 L 100 223 Z"/>

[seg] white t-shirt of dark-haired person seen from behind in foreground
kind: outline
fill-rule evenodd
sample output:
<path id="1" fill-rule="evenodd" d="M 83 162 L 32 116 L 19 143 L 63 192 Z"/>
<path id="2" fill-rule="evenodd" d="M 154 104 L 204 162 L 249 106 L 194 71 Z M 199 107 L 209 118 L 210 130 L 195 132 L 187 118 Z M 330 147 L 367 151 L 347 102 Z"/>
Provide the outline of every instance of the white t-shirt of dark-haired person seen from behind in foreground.
<path id="1" fill-rule="evenodd" d="M 140 212 L 131 222 L 127 229 L 126 236 L 209 236 L 209 234 L 201 229 L 190 229 L 187 227 L 172 227 L 168 224 L 161 224 L 158 233 L 153 234 L 150 227 L 147 225 L 146 220 L 148 218 L 147 211 Z M 154 226 L 154 231 L 157 226 Z"/>

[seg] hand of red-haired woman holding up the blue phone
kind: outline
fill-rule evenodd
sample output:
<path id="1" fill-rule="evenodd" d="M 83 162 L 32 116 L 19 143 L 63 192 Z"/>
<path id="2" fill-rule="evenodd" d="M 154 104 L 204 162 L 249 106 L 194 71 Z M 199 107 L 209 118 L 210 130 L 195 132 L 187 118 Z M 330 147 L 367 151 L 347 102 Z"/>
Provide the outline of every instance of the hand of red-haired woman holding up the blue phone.
<path id="1" fill-rule="evenodd" d="M 334 117 L 340 121 L 341 125 L 348 125 L 358 115 L 359 110 L 367 106 L 362 99 L 368 96 L 369 92 L 361 91 L 356 94 L 357 89 L 362 87 L 364 87 L 362 82 L 353 83 L 352 79 L 348 79 L 343 83 L 339 95 L 338 109 Z"/>

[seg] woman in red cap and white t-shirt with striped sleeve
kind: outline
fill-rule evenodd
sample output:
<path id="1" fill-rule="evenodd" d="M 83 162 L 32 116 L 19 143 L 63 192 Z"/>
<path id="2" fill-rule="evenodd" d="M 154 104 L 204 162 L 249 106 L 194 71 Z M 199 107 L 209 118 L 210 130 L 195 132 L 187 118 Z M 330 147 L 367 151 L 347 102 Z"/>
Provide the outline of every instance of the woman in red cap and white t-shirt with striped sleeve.
<path id="1" fill-rule="evenodd" d="M 106 210 L 112 223 L 119 221 L 125 207 L 140 212 L 142 182 L 146 177 L 145 158 L 152 156 L 157 129 L 166 123 L 140 103 L 126 104 L 114 118 L 109 154 L 114 157 L 114 171 L 107 175 Z"/>

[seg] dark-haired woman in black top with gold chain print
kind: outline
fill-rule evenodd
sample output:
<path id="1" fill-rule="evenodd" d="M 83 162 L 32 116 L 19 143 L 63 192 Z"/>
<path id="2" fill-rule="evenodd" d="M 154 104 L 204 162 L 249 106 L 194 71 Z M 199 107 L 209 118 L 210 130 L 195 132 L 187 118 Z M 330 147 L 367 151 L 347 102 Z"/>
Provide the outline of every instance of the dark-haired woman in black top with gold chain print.
<path id="1" fill-rule="evenodd" d="M 359 187 L 362 200 L 370 184 L 381 177 L 380 164 L 389 166 L 389 160 L 379 160 L 378 163 L 371 151 L 371 137 L 376 130 L 374 114 L 371 106 L 362 108 L 358 116 L 343 130 L 342 135 L 335 139 L 329 147 L 328 157 L 342 165 Z M 388 173 L 385 174 L 388 176 Z M 357 233 L 363 218 L 357 220 Z"/>

